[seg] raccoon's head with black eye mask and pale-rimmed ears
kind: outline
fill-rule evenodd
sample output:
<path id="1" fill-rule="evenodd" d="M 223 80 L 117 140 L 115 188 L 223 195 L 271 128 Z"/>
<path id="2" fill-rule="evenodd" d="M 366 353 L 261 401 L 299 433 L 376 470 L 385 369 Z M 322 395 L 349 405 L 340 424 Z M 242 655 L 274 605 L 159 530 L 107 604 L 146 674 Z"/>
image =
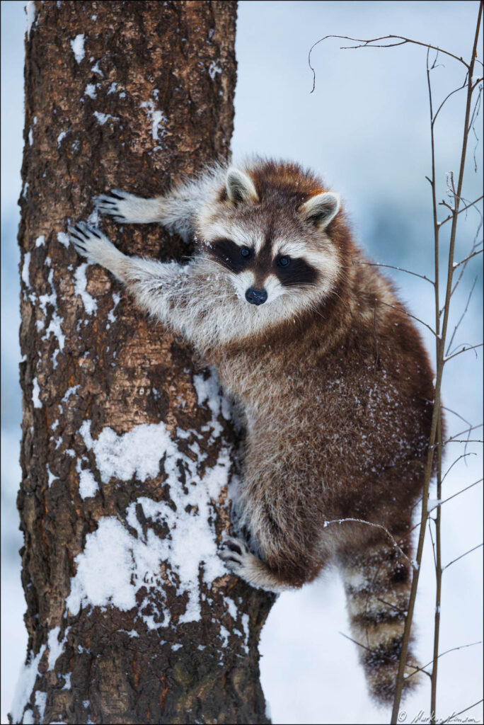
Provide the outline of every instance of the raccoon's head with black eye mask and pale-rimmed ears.
<path id="1" fill-rule="evenodd" d="M 314 183 L 307 194 L 287 167 L 272 167 L 269 177 L 264 167 L 252 173 L 256 183 L 250 170 L 230 167 L 216 202 L 200 215 L 206 255 L 225 270 L 245 305 L 273 307 L 278 300 L 288 312 L 312 305 L 334 288 L 341 268 L 325 231 L 338 214 L 339 196 L 314 191 Z"/>

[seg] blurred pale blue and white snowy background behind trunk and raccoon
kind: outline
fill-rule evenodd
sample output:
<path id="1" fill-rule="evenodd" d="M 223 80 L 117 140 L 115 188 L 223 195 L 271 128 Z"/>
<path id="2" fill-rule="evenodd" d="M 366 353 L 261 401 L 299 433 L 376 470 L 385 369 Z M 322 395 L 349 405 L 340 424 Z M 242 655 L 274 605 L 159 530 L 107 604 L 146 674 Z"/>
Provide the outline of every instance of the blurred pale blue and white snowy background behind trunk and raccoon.
<path id="1" fill-rule="evenodd" d="M 388 33 L 428 41 L 469 57 L 477 1 L 435 2 L 304 2 L 241 1 L 236 51 L 234 157 L 252 152 L 302 162 L 324 173 L 341 192 L 354 220 L 356 236 L 380 262 L 432 276 L 433 239 L 425 49 L 401 46 L 390 50 L 340 50 L 335 40 L 314 50 L 316 89 L 307 54 L 328 33 L 372 38 Z M 15 497 L 20 481 L 21 398 L 18 385 L 19 281 L 17 250 L 20 165 L 22 159 L 23 33 L 22 1 L 1 2 L 1 722 L 17 672 L 25 657 L 27 637 L 20 586 Z M 442 99 L 463 80 L 451 59 L 433 72 L 435 99 Z M 445 194 L 445 173 L 457 170 L 463 125 L 464 96 L 456 94 L 437 128 L 438 195 Z M 480 124 L 477 125 L 480 133 Z M 479 196 L 480 176 L 472 164 L 471 145 L 464 196 Z M 477 149 L 480 159 L 482 143 Z M 466 256 L 477 228 L 472 210 L 462 225 L 456 259 Z M 448 226 L 448 225 L 447 225 Z M 482 231 L 481 231 L 482 238 Z M 444 234 L 443 241 L 446 241 Z M 482 274 L 480 257 L 468 266 L 454 295 L 452 330 L 466 305 L 477 275 L 469 312 L 456 342 L 482 341 Z M 392 270 L 389 270 L 392 271 Z M 412 312 L 433 323 L 432 289 L 425 281 L 393 272 L 401 296 Z M 433 339 L 422 333 L 433 353 Z M 472 424 L 482 420 L 482 355 L 456 357 L 446 368 L 443 400 Z M 448 413 L 450 433 L 464 428 Z M 481 431 L 477 436 L 482 437 Z M 454 466 L 446 479 L 445 497 L 482 476 L 480 446 Z M 462 453 L 448 447 L 446 467 Z M 445 468 L 446 468 L 445 467 Z M 448 562 L 483 540 L 482 484 L 443 506 L 443 560 Z M 482 549 L 444 573 L 441 652 L 482 640 Z M 430 547 L 420 577 L 416 623 L 418 653 L 431 659 L 434 573 Z M 262 634 L 262 684 L 275 724 L 380 723 L 388 713 L 367 697 L 356 647 L 348 633 L 343 589 L 337 573 L 328 572 L 300 592 L 281 595 Z M 8 663 L 8 665 L 7 665 Z M 447 718 L 482 697 L 481 645 L 457 650 L 440 660 L 438 716 Z M 410 722 L 428 715 L 430 688 L 425 684 L 404 705 Z M 464 716 L 482 722 L 482 704 Z"/>

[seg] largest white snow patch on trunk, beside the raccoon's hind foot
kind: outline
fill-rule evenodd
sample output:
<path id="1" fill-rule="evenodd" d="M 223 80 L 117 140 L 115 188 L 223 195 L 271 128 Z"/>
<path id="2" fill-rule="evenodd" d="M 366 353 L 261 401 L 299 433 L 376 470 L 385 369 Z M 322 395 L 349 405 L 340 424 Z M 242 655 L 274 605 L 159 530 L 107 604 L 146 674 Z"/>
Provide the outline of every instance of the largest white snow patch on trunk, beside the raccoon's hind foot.
<path id="1" fill-rule="evenodd" d="M 170 486 L 171 502 L 140 497 L 128 506 L 125 526 L 114 516 L 99 521 L 98 529 L 88 534 L 83 552 L 75 559 L 78 569 L 71 579 L 67 607 L 72 614 L 77 614 L 81 605 L 130 610 L 137 605 L 136 593 L 144 587 L 157 591 L 158 603 L 151 601 L 154 613 L 141 618 L 150 629 L 167 626 L 170 611 L 159 603 L 159 592 L 168 580 L 177 588 L 178 596 L 188 595 L 179 621 L 199 620 L 199 578 L 211 584 L 226 573 L 217 555 L 214 527 L 208 522 L 214 513 L 212 500 L 217 500 L 221 486 L 228 484 L 228 450 L 222 449 L 217 463 L 206 468 L 201 479 L 199 465 L 206 453 L 197 450 L 198 460 L 193 461 L 170 438 L 164 423 L 143 423 L 122 435 L 104 428 L 94 440 L 91 422 L 84 421 L 80 433 L 96 457 L 105 484 L 112 477 L 129 481 L 136 476 L 145 481 L 157 476 L 163 459 L 164 485 Z M 184 483 L 180 481 L 182 469 Z M 158 531 L 167 532 L 164 538 L 146 526 L 147 520 L 157 525 Z M 138 610 L 142 609 L 138 602 Z"/>

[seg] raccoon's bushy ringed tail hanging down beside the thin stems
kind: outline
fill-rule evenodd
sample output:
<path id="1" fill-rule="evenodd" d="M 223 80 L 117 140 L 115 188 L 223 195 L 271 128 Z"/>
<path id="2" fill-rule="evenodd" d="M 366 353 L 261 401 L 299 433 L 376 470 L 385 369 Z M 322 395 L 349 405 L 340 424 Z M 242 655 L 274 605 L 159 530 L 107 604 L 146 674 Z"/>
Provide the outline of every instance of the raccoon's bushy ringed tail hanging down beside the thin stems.
<path id="1" fill-rule="evenodd" d="M 341 573 L 351 637 L 359 645 L 370 694 L 380 703 L 391 703 L 412 584 L 410 563 L 385 542 L 363 552 L 347 552 L 341 558 Z M 415 674 L 419 666 L 409 647 L 404 693 L 420 682 L 420 674 Z"/>

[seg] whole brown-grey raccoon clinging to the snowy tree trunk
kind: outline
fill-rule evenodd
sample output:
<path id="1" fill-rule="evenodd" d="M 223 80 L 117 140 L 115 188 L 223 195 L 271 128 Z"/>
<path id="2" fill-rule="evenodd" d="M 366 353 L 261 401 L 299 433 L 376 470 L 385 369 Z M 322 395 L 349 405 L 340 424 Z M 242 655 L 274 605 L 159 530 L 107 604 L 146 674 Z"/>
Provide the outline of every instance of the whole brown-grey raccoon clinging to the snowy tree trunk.
<path id="1" fill-rule="evenodd" d="M 225 543 L 226 565 L 270 592 L 339 566 L 370 692 L 389 702 L 434 397 L 391 282 L 356 246 L 338 194 L 293 163 L 213 165 L 165 196 L 114 189 L 96 207 L 195 240 L 180 265 L 69 228 L 75 249 L 191 341 L 243 407 L 245 536 Z M 409 652 L 407 690 L 417 668 Z"/>

